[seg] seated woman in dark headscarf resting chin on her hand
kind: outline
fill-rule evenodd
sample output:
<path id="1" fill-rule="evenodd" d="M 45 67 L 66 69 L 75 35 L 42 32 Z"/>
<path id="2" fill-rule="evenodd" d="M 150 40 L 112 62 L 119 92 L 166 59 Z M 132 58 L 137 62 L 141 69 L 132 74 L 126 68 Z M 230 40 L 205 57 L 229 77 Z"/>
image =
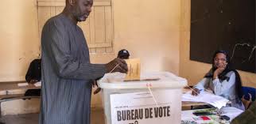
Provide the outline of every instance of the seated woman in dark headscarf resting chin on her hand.
<path id="1" fill-rule="evenodd" d="M 212 68 L 204 79 L 194 86 L 192 95 L 200 94 L 209 88 L 215 95 L 223 96 L 231 101 L 231 107 L 244 110 L 240 100 L 242 98 L 242 84 L 239 73 L 231 69 L 230 58 L 226 51 L 215 51 L 212 58 Z"/>

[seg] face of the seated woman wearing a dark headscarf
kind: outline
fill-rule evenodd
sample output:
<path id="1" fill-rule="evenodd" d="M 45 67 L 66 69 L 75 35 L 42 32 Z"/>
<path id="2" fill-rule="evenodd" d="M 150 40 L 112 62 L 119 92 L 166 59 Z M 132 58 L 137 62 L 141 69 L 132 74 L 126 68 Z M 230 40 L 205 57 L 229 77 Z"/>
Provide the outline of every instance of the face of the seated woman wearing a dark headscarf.
<path id="1" fill-rule="evenodd" d="M 227 66 L 227 56 L 223 53 L 216 54 L 214 58 L 215 68 L 225 68 Z"/>

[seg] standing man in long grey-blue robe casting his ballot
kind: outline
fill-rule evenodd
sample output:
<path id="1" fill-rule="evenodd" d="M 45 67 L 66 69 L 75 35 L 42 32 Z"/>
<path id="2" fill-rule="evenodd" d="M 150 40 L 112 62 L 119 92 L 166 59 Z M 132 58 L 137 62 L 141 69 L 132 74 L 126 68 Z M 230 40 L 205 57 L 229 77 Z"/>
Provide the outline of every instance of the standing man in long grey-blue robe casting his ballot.
<path id="1" fill-rule="evenodd" d="M 91 13 L 93 0 L 66 0 L 64 11 L 50 18 L 42 30 L 42 100 L 40 124 L 90 124 L 91 85 L 104 73 L 127 72 L 115 58 L 91 64 L 78 21 Z"/>

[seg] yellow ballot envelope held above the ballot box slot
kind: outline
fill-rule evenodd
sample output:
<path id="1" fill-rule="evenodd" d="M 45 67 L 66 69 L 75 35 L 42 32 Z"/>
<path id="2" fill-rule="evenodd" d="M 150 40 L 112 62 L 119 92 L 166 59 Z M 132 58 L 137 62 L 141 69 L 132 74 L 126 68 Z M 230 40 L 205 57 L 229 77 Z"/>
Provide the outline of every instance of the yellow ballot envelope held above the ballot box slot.
<path id="1" fill-rule="evenodd" d="M 139 58 L 126 59 L 128 72 L 125 81 L 140 81 L 141 78 L 141 61 Z"/>

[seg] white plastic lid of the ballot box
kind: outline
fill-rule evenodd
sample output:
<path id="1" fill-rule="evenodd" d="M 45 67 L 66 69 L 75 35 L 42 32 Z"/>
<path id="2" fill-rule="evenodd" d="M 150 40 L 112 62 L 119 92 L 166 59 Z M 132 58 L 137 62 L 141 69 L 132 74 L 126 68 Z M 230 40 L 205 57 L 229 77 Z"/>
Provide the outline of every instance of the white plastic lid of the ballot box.
<path id="1" fill-rule="evenodd" d="M 187 80 L 169 72 L 141 73 L 140 81 L 124 81 L 126 73 L 106 73 L 98 83 L 100 88 L 183 88 Z"/>

